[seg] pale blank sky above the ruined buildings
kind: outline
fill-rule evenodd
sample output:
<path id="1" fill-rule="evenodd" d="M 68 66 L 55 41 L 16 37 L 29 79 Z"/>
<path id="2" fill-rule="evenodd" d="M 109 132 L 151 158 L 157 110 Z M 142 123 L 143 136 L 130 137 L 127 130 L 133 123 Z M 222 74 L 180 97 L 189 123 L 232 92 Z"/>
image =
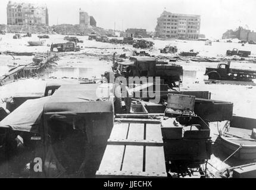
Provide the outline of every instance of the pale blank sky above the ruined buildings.
<path id="1" fill-rule="evenodd" d="M 255 0 L 16 0 L 38 2 L 49 9 L 49 25 L 79 24 L 79 8 L 92 15 L 104 29 L 139 28 L 154 31 L 166 11 L 201 15 L 201 33 L 221 37 L 238 26 L 256 31 Z M 0 1 L 0 23 L 7 24 L 8 0 Z"/>

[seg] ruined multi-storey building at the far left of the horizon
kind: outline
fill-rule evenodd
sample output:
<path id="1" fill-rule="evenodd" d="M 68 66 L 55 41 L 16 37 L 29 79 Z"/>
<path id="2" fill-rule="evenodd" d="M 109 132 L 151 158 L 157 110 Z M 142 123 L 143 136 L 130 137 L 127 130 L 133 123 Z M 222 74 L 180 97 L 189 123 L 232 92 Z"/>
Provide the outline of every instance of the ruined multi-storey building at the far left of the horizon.
<path id="1" fill-rule="evenodd" d="M 9 1 L 7 4 L 8 25 L 41 25 L 49 26 L 46 6 Z"/>

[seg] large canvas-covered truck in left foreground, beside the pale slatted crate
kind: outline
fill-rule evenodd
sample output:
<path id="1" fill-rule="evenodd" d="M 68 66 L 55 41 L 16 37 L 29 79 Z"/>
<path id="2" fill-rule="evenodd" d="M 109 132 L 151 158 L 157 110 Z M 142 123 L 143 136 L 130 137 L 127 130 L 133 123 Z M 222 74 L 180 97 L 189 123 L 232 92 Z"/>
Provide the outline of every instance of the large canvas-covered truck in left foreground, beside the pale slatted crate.
<path id="1" fill-rule="evenodd" d="M 93 177 L 113 121 L 111 84 L 62 85 L 52 96 L 27 100 L 0 122 L 1 175 L 20 176 L 29 164 L 24 177 Z M 42 172 L 33 170 L 35 158 Z"/>

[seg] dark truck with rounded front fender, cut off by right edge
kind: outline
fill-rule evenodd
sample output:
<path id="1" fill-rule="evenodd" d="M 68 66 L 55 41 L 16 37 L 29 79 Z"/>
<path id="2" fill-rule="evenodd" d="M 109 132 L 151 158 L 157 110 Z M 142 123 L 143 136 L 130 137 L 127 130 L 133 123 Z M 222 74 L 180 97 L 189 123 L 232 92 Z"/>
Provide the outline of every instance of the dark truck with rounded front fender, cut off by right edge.
<path id="1" fill-rule="evenodd" d="M 230 61 L 227 64 L 218 64 L 217 68 L 206 68 L 205 75 L 210 80 L 232 80 L 248 81 L 256 78 L 255 70 L 233 69 L 230 68 Z"/>

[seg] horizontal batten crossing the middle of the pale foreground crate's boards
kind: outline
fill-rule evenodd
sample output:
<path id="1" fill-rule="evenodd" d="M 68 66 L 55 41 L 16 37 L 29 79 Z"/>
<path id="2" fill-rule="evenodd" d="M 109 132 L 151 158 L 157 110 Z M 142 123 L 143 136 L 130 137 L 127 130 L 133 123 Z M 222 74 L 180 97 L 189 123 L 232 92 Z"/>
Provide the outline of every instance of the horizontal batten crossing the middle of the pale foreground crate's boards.
<path id="1" fill-rule="evenodd" d="M 147 146 L 163 146 L 163 140 L 154 141 L 154 140 L 128 140 L 113 138 L 108 140 L 108 144 L 112 145 L 147 145 Z"/>

